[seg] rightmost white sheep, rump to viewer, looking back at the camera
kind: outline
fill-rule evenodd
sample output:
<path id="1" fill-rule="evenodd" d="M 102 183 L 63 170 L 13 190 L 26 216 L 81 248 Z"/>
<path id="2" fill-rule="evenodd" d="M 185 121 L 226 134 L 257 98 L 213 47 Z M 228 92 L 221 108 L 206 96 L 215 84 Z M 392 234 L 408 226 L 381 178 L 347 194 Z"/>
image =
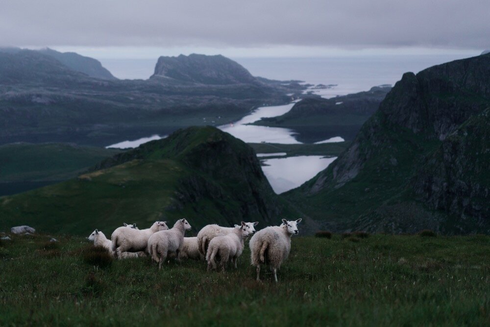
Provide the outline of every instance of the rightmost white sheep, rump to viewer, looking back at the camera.
<path id="1" fill-rule="evenodd" d="M 252 266 L 257 267 L 257 281 L 260 281 L 260 265 L 269 264 L 277 282 L 277 269 L 288 258 L 291 250 L 291 236 L 298 234 L 296 221 L 282 220 L 281 226 L 269 226 L 259 230 L 250 239 L 250 261 Z"/>

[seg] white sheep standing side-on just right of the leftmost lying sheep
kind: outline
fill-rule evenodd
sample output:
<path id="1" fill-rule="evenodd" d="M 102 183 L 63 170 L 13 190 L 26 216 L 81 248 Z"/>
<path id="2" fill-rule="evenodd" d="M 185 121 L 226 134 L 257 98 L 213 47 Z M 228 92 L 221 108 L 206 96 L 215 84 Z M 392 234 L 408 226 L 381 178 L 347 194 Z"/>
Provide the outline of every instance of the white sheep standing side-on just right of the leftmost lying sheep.
<path id="1" fill-rule="evenodd" d="M 111 250 L 116 257 L 122 252 L 147 252 L 148 238 L 161 230 L 169 229 L 166 222 L 155 222 L 147 229 L 118 227 L 112 233 Z"/>

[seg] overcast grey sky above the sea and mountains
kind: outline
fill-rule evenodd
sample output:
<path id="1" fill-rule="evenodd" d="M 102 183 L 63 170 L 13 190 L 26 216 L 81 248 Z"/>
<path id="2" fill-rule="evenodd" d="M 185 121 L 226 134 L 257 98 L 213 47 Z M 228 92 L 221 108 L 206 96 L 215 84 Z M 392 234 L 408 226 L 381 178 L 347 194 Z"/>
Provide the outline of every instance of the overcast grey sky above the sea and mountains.
<path id="1" fill-rule="evenodd" d="M 0 6 L 2 46 L 102 56 L 117 56 L 118 49 L 138 57 L 142 49 L 321 55 L 490 48 L 490 0 L 0 0 Z"/>

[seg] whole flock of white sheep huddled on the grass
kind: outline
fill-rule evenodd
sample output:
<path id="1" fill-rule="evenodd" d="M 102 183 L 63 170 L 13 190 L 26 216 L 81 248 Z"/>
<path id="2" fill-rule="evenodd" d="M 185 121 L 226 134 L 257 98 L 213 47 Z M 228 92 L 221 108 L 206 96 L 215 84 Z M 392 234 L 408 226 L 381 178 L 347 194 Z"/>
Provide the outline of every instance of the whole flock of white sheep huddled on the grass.
<path id="1" fill-rule="evenodd" d="M 257 281 L 260 281 L 260 269 L 269 266 L 277 282 L 277 270 L 286 261 L 291 251 L 291 236 L 298 234 L 297 225 L 301 218 L 293 221 L 282 220 L 280 226 L 265 227 L 258 232 L 259 223 L 245 223 L 234 227 L 216 224 L 204 226 L 196 237 L 185 237 L 185 231 L 191 229 L 186 219 L 179 219 L 172 228 L 167 222 L 155 222 L 149 228 L 139 229 L 136 224 L 118 227 L 107 239 L 103 232 L 95 229 L 88 239 L 95 246 L 106 249 L 118 259 L 149 256 L 158 263 L 159 269 L 168 258 L 192 259 L 207 262 L 207 269 L 225 271 L 229 262 L 237 269 L 237 259 L 242 255 L 245 240 L 251 235 L 250 263 L 257 269 Z"/>

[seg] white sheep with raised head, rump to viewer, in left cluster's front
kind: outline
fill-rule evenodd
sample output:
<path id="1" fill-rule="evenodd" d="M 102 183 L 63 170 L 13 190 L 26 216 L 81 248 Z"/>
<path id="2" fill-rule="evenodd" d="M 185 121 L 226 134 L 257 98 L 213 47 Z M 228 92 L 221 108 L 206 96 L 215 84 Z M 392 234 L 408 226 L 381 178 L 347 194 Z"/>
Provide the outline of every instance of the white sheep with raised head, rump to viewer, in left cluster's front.
<path id="1" fill-rule="evenodd" d="M 147 249 L 152 260 L 158 263 L 158 269 L 162 269 L 162 263 L 167 255 L 175 253 L 177 261 L 180 261 L 180 252 L 184 246 L 184 233 L 191 229 L 191 225 L 185 219 L 179 219 L 169 230 L 154 233 L 148 238 Z"/>

